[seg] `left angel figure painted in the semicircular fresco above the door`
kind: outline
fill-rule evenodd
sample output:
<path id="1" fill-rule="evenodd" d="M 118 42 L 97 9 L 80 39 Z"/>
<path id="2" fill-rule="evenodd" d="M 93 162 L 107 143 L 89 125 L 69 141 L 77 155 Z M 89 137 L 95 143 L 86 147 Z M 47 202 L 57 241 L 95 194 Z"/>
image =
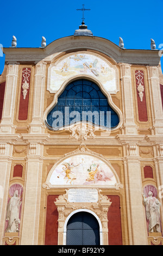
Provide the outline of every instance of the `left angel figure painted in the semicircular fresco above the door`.
<path id="1" fill-rule="evenodd" d="M 80 163 L 74 165 L 73 163 L 62 163 L 62 165 L 64 165 L 64 167 L 62 167 L 62 172 L 65 174 L 64 179 L 66 179 L 66 183 L 68 183 L 68 181 L 70 181 L 70 184 L 72 184 L 73 180 L 76 180 L 76 175 L 73 172 L 73 168 L 79 166 Z M 60 174 L 61 174 L 60 173 Z M 60 175 L 59 175 L 60 176 Z M 57 178 L 59 178 L 59 176 L 57 176 Z"/>

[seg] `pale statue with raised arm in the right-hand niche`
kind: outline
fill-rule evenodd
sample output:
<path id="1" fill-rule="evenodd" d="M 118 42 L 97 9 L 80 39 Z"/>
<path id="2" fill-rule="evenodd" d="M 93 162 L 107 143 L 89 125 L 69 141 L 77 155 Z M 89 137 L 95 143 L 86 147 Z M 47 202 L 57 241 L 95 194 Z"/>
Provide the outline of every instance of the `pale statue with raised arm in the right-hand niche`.
<path id="1" fill-rule="evenodd" d="M 143 203 L 146 206 L 146 217 L 149 221 L 149 227 L 148 232 L 159 232 L 161 233 L 161 223 L 160 223 L 160 206 L 161 203 L 158 199 L 153 197 L 153 192 L 148 192 L 148 197 L 145 197 L 145 194 L 142 194 L 143 196 Z"/>

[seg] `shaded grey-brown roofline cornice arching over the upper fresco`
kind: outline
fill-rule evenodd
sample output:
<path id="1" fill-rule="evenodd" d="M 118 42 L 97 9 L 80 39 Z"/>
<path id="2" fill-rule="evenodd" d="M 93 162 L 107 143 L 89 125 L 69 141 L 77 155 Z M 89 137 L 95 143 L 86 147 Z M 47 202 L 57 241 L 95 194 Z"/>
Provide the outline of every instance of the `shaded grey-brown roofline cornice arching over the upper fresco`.
<path id="1" fill-rule="evenodd" d="M 41 46 L 41 45 L 40 45 Z M 67 51 L 98 51 L 113 59 L 116 63 L 158 65 L 158 50 L 122 49 L 108 39 L 98 36 L 67 36 L 51 42 L 45 48 L 3 48 L 5 62 L 40 62 L 52 63 L 55 58 Z"/>

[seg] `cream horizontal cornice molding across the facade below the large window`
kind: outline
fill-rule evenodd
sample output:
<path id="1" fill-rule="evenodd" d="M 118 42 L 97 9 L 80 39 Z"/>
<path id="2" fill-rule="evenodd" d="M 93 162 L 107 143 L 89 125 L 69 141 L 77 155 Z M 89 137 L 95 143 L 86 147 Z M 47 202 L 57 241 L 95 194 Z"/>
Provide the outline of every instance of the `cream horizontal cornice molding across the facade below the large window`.
<path id="1" fill-rule="evenodd" d="M 70 135 L 50 135 L 50 134 L 10 134 L 0 135 L 0 143 L 6 143 L 10 145 L 28 145 L 30 143 L 42 144 L 42 145 L 80 145 L 80 141 L 70 139 Z M 86 145 L 97 146 L 123 146 L 136 144 L 143 147 L 149 147 L 153 145 L 162 145 L 163 136 L 158 135 L 116 135 L 116 136 L 96 136 L 95 138 L 87 138 Z"/>

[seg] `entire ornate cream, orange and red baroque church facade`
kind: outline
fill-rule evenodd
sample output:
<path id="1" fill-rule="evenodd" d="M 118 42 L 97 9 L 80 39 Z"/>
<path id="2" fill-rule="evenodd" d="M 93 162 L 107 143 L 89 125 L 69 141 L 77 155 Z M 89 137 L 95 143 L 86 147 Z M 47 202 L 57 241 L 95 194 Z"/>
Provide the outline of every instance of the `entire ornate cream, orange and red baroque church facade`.
<path id="1" fill-rule="evenodd" d="M 159 51 L 84 22 L 3 51 L 1 245 L 163 245 Z"/>

